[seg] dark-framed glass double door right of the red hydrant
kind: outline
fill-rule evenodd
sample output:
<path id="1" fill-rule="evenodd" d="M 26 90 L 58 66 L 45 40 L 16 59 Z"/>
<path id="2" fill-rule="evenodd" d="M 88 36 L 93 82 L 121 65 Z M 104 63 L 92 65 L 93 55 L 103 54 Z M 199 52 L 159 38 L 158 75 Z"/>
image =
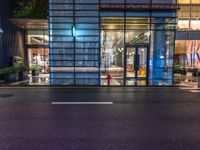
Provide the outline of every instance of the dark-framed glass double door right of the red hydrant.
<path id="1" fill-rule="evenodd" d="M 147 46 L 128 46 L 126 48 L 126 85 L 148 85 L 148 59 Z"/>

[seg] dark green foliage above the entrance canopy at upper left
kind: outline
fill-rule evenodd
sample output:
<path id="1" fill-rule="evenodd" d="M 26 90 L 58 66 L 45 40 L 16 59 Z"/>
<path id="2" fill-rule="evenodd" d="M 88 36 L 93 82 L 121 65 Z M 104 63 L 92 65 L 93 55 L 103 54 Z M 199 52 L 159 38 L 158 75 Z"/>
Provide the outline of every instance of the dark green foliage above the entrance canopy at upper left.
<path id="1" fill-rule="evenodd" d="M 13 10 L 17 18 L 47 18 L 48 0 L 13 0 Z"/>

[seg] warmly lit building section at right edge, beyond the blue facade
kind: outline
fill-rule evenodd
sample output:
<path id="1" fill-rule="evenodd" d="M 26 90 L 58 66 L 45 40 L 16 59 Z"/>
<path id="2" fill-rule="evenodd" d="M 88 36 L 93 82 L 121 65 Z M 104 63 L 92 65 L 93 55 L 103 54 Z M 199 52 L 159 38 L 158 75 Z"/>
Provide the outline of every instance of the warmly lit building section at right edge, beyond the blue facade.
<path id="1" fill-rule="evenodd" d="M 197 86 L 200 75 L 200 0 L 178 0 L 174 84 Z"/>

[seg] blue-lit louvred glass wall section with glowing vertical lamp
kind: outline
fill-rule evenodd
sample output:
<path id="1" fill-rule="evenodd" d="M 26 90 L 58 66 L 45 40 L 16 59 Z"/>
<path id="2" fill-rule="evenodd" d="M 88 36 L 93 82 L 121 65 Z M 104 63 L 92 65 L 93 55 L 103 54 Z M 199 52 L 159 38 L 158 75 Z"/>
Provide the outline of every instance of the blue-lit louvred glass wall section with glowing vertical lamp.
<path id="1" fill-rule="evenodd" d="M 50 0 L 51 85 L 99 85 L 99 0 Z"/>

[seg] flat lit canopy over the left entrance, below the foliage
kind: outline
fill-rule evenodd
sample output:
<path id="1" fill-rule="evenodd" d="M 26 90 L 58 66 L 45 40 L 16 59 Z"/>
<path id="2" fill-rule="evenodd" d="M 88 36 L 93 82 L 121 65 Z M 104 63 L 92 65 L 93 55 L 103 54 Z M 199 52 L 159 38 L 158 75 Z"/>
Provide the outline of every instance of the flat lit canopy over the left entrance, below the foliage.
<path id="1" fill-rule="evenodd" d="M 48 29 L 48 19 L 19 19 L 19 18 L 13 18 L 10 19 L 10 22 L 15 24 L 16 26 L 22 28 L 22 29 Z"/>

